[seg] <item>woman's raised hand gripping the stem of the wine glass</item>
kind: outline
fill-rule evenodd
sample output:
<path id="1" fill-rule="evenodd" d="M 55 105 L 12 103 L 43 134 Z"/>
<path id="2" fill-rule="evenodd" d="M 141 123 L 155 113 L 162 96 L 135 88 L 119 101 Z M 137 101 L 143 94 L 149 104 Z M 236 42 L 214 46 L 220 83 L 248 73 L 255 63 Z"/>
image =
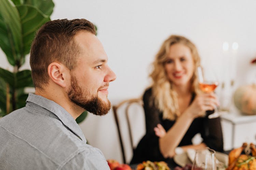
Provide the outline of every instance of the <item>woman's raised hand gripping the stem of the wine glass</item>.
<path id="1" fill-rule="evenodd" d="M 195 100 L 187 108 L 186 112 L 193 118 L 203 116 L 205 111 L 214 110 L 215 106 L 218 106 L 219 102 L 216 95 L 211 93 L 202 93 L 196 96 Z"/>

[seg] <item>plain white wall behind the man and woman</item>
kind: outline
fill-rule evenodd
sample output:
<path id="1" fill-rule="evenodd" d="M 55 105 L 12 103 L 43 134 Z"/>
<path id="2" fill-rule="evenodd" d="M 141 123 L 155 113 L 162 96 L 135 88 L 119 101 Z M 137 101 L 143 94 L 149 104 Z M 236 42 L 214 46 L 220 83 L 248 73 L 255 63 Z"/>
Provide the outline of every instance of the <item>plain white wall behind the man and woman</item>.
<path id="1" fill-rule="evenodd" d="M 162 41 L 170 34 L 181 34 L 198 47 L 204 66 L 212 65 L 224 80 L 223 62 L 227 54 L 222 44 L 236 41 L 236 86 L 255 78 L 256 65 L 256 1 L 255 0 L 54 0 L 51 19 L 86 18 L 98 27 L 98 38 L 109 56 L 109 65 L 117 75 L 110 84 L 112 103 L 139 97 L 149 85 L 149 65 Z M 29 68 L 29 58 L 23 68 Z M 0 67 L 12 70 L 2 51 Z M 229 69 L 230 70 L 230 69 Z M 105 157 L 121 160 L 113 114 L 90 115 L 81 127 L 91 145 L 102 150 Z"/>

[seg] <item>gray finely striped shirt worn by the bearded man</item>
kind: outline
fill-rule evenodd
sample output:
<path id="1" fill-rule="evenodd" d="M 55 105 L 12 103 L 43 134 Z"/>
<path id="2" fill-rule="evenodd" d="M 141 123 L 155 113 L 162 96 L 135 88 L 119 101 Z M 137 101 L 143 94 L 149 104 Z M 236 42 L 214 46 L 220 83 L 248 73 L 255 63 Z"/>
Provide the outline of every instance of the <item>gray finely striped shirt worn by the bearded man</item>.
<path id="1" fill-rule="evenodd" d="M 29 94 L 27 104 L 0 119 L 0 169 L 109 169 L 103 154 L 86 144 L 73 117 L 60 105 Z"/>

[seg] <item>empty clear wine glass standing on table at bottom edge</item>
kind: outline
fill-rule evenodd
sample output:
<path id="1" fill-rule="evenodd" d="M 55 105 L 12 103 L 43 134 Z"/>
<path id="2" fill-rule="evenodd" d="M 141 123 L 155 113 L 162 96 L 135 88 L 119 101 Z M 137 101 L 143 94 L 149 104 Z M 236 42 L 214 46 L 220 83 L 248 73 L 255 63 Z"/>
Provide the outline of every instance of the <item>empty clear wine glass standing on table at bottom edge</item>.
<path id="1" fill-rule="evenodd" d="M 197 150 L 191 170 L 217 170 L 215 151 L 210 148 Z"/>

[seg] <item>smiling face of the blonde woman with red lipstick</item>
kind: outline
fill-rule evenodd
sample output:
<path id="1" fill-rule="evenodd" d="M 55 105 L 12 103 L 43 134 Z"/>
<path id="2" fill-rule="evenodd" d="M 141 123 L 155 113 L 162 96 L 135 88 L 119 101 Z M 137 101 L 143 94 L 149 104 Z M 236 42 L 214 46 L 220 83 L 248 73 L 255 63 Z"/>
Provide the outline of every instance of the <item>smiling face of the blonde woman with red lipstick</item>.
<path id="1" fill-rule="evenodd" d="M 172 45 L 164 67 L 169 81 L 174 85 L 182 86 L 190 83 L 195 69 L 190 49 L 179 43 Z"/>

